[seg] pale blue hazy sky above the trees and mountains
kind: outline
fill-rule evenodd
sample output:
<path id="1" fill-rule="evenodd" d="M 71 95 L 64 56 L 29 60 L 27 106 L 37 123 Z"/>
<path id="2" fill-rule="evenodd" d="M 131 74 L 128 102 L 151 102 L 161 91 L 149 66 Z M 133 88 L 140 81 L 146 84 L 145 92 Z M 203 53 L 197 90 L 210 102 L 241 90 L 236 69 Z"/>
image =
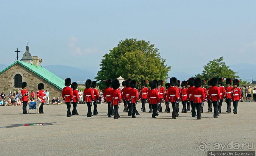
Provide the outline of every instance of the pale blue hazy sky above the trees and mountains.
<path id="1" fill-rule="evenodd" d="M 0 0 L 0 64 L 16 47 L 43 59 L 98 71 L 120 40 L 137 38 L 159 48 L 175 72 L 201 73 L 210 60 L 256 65 L 255 0 Z M 4 57 L 3 57 L 4 56 Z"/>

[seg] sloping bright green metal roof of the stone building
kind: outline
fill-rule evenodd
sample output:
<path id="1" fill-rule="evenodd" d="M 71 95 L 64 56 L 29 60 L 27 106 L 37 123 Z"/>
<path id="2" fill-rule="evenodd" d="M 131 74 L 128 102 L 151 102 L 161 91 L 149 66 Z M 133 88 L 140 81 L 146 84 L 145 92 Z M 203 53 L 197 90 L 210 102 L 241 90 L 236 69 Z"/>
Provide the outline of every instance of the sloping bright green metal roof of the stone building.
<path id="1" fill-rule="evenodd" d="M 34 64 L 23 62 L 23 61 L 15 61 L 13 64 L 11 64 L 10 66 L 8 66 L 4 70 L 2 70 L 0 72 L 0 74 L 3 73 L 4 71 L 6 71 L 7 69 L 9 69 L 10 67 L 14 66 L 17 63 L 24 66 L 25 68 L 27 68 L 31 72 L 35 73 L 39 77 L 43 78 L 44 80 L 46 80 L 50 84 L 56 86 L 60 90 L 62 90 L 65 87 L 65 80 L 56 76 L 54 73 L 48 71 L 47 69 L 43 68 L 40 65 L 37 67 Z"/>

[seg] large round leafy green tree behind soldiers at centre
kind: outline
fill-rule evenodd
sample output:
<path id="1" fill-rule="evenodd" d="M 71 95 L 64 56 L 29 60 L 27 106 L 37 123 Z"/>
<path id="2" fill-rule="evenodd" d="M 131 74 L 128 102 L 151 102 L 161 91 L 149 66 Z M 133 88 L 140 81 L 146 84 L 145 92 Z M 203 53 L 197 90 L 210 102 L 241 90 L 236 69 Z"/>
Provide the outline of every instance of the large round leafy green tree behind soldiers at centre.
<path id="1" fill-rule="evenodd" d="M 100 81 L 99 88 L 105 88 L 105 79 L 131 78 L 138 81 L 167 79 L 171 66 L 165 64 L 166 59 L 160 57 L 159 49 L 149 41 L 137 39 L 121 40 L 117 47 L 105 54 L 101 61 L 101 70 L 95 79 Z"/>

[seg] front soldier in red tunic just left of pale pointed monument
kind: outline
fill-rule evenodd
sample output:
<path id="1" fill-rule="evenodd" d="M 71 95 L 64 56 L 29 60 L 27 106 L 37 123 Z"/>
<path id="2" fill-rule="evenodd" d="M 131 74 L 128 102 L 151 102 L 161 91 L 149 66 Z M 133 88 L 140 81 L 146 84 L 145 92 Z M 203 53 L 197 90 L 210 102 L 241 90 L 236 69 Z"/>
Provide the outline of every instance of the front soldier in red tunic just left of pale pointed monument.
<path id="1" fill-rule="evenodd" d="M 121 91 L 118 90 L 118 88 L 120 87 L 119 80 L 113 80 L 111 82 L 111 85 L 113 87 L 113 90 L 111 90 L 110 98 L 112 99 L 112 105 L 114 106 L 115 110 L 114 119 L 118 119 L 118 117 L 120 117 L 118 114 L 118 108 L 119 104 L 121 103 Z"/>

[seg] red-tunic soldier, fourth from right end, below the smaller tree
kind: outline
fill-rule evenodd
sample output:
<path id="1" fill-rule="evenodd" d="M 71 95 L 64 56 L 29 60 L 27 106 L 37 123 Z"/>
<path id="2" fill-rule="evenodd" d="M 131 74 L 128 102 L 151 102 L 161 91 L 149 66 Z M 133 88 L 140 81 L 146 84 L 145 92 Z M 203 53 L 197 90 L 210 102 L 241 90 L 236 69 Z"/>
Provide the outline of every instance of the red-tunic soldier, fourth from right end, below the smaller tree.
<path id="1" fill-rule="evenodd" d="M 212 87 L 208 90 L 208 98 L 213 102 L 214 113 L 213 117 L 217 118 L 218 114 L 218 102 L 220 102 L 220 89 L 217 87 L 218 78 L 211 79 Z"/>

